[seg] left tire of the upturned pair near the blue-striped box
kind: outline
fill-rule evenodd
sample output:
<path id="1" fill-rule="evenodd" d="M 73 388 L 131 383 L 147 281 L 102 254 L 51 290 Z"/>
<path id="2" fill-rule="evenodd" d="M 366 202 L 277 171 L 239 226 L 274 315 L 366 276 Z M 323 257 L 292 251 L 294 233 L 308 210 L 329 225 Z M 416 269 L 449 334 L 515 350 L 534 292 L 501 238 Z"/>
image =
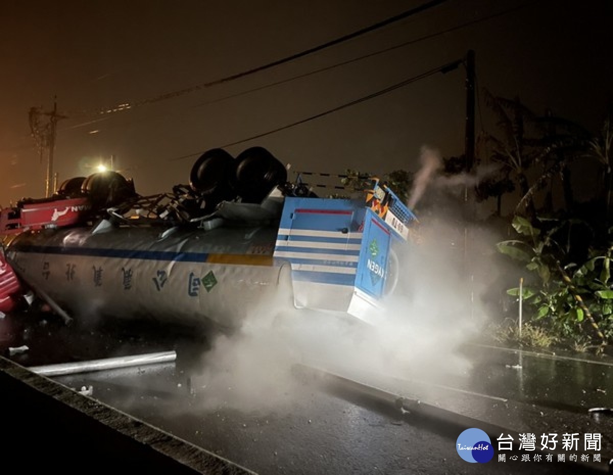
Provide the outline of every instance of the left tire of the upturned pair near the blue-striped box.
<path id="1" fill-rule="evenodd" d="M 200 155 L 194 163 L 189 173 L 189 186 L 204 196 L 216 194 L 227 188 L 233 170 L 234 157 L 223 148 L 213 148 Z"/>

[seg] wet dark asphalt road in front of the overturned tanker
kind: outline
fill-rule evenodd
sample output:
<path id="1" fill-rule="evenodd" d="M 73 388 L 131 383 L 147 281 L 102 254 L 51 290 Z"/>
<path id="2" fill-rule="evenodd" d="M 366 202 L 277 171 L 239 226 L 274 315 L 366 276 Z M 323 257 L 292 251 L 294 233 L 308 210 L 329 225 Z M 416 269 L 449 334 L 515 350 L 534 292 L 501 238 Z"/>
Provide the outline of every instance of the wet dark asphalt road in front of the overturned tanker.
<path id="1" fill-rule="evenodd" d="M 274 404 L 239 409 L 223 400 L 211 403 L 200 363 L 209 340 L 185 329 L 145 324 L 91 330 L 66 328 L 53 319 L 41 323 L 39 316 L 1 319 L 0 350 L 21 344 L 29 350 L 11 359 L 26 367 L 176 349 L 174 364 L 55 379 L 75 389 L 91 385 L 92 397 L 257 473 L 606 473 L 613 454 L 612 420 L 587 414 L 590 407 L 610 405 L 611 366 L 603 364 L 608 360 L 520 356 L 466 346 L 463 355 L 473 364 L 470 371 L 457 374 L 408 380 L 332 368 L 428 407 L 483 422 L 473 427 L 504 428 L 515 439 L 531 431 L 537 446 L 541 433 L 558 433 L 558 439 L 567 431 L 602 434 L 600 464 L 570 463 L 571 452 L 566 452 L 565 463 L 512 462 L 511 452 L 506 462 L 498 462 L 496 450 L 495 458 L 481 465 L 463 461 L 455 450 L 459 433 L 471 427 L 462 423 L 471 419 L 458 422 L 435 411 L 403 414 L 376 397 L 304 371 L 292 374 L 293 384 L 280 390 Z M 582 450 L 582 443 L 575 453 L 590 454 L 592 462 L 596 452 Z"/>

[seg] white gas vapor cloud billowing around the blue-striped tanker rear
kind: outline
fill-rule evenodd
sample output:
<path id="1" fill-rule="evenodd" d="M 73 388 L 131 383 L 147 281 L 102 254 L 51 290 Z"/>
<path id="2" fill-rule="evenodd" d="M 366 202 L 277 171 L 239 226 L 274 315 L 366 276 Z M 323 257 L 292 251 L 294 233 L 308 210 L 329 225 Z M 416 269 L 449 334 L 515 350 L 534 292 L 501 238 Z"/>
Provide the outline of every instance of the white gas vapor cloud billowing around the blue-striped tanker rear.
<path id="1" fill-rule="evenodd" d="M 435 193 L 445 183 L 439 180 L 436 151 L 422 148 L 421 162 L 410 203 L 419 200 L 428 183 L 438 183 Z M 298 390 L 295 363 L 365 382 L 369 374 L 422 381 L 466 374 L 470 364 L 456 349 L 487 322 L 482 297 L 499 272 L 485 253 L 493 249 L 495 236 L 458 222 L 461 213 L 453 206 L 460 203 L 447 202 L 440 212 L 419 217 L 419 243 L 395 246 L 400 280 L 386 299 L 386 310 L 378 313 L 380 324 L 289 310 L 284 298 L 262 301 L 240 332 L 219 336 L 204 354 L 194 376 L 202 408 L 289 411 L 291 393 Z M 468 256 L 471 278 L 463 267 L 465 233 L 476 249 Z"/>

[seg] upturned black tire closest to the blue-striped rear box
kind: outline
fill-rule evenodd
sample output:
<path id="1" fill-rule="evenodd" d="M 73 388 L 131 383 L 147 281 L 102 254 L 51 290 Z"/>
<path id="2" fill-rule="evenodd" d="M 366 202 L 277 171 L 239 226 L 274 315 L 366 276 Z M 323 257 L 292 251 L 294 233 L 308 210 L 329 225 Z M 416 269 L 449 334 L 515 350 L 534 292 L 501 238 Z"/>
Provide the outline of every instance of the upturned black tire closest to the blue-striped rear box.
<path id="1" fill-rule="evenodd" d="M 286 181 L 286 168 L 265 148 L 251 147 L 238 155 L 232 186 L 243 202 L 261 203 L 275 186 Z"/>

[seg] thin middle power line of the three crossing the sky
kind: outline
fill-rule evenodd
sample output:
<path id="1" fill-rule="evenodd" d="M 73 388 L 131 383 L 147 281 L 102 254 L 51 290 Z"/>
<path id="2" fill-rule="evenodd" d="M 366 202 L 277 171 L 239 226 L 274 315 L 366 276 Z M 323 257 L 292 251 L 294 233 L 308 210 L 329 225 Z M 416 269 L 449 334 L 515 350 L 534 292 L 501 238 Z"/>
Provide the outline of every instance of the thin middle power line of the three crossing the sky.
<path id="1" fill-rule="evenodd" d="M 202 107 L 204 105 L 216 104 L 217 102 L 226 101 L 227 99 L 234 99 L 235 97 L 245 96 L 246 94 L 251 94 L 251 93 L 254 93 L 254 92 L 257 92 L 257 91 L 262 91 L 263 89 L 272 88 L 273 86 L 278 86 L 278 85 L 281 85 L 281 84 L 284 84 L 284 83 L 288 83 L 288 82 L 291 82 L 291 81 L 294 81 L 294 80 L 302 79 L 302 78 L 305 78 L 305 77 L 308 77 L 308 76 L 311 76 L 311 75 L 314 75 L 314 74 L 319 74 L 319 73 L 322 73 L 322 72 L 326 72 L 326 71 L 329 71 L 329 70 L 332 70 L 332 69 L 336 69 L 337 67 L 346 66 L 347 64 L 356 63 L 357 61 L 361 61 L 362 59 L 367 59 L 367 58 L 371 58 L 373 56 L 378 56 L 378 55 L 381 55 L 381 54 L 384 54 L 384 53 L 389 53 L 389 51 L 394 51 L 394 50 L 397 50 L 397 49 L 400 49 L 400 48 L 407 47 L 409 45 L 414 45 L 414 44 L 417 44 L 419 42 L 422 42 L 422 41 L 425 41 L 425 40 L 428 40 L 428 39 L 432 39 L 432 38 L 435 38 L 435 37 L 438 37 L 438 36 L 443 36 L 444 34 L 448 34 L 448 33 L 457 31 L 459 29 L 466 28 L 468 26 L 472 26 L 472 25 L 476 25 L 478 23 L 482 23 L 483 21 L 489 21 L 489 20 L 493 20 L 494 18 L 501 17 L 503 15 L 508 15 L 508 13 L 513 13 L 513 12 L 516 12 L 517 10 L 524 9 L 525 7 L 533 6 L 533 5 L 535 5 L 536 3 L 540 2 L 540 1 L 542 1 L 542 0 L 534 0 L 534 1 L 526 2 L 526 3 L 522 4 L 522 5 L 519 5 L 519 6 L 516 6 L 516 7 L 512 7 L 512 8 L 503 10 L 503 11 L 498 12 L 498 13 L 492 13 L 492 15 L 487 15 L 487 16 L 482 17 L 482 18 L 476 18 L 475 20 L 466 21 L 465 23 L 462 23 L 460 25 L 452 26 L 451 28 L 447 28 L 447 29 L 444 29 L 442 31 L 434 32 L 434 33 L 427 34 L 427 35 L 424 35 L 424 36 L 421 36 L 421 37 L 418 37 L 418 38 L 415 38 L 415 39 L 412 39 L 412 40 L 408 40 L 408 41 L 402 42 L 400 44 L 384 48 L 382 50 L 373 51 L 372 53 L 368 53 L 366 55 L 357 56 L 356 58 L 348 59 L 346 61 L 341 61 L 340 63 L 331 64 L 330 66 L 321 67 L 319 69 L 315 69 L 315 70 L 312 70 L 312 71 L 309 71 L 309 72 L 305 72 L 305 73 L 302 73 L 302 74 L 294 75 L 292 77 L 281 79 L 281 80 L 278 80 L 278 81 L 275 81 L 275 82 L 272 82 L 272 83 L 268 83 L 268 84 L 265 84 L 265 85 L 262 85 L 262 86 L 257 86 L 256 88 L 246 89 L 245 91 L 240 91 L 240 92 L 235 93 L 235 94 L 229 94 L 227 96 L 218 97 L 217 99 L 212 99 L 211 101 L 201 102 L 200 104 L 192 105 L 192 108 Z M 479 107 L 480 107 L 480 105 L 479 105 Z M 479 110 L 479 114 L 481 114 L 480 110 Z M 81 123 L 81 124 L 75 124 L 73 126 L 64 127 L 64 129 L 61 129 L 60 131 L 67 131 L 67 130 L 70 130 L 70 129 L 77 129 L 79 127 L 85 127 L 85 126 L 88 126 L 88 125 L 91 125 L 91 124 L 94 124 L 94 123 L 98 123 L 98 122 L 101 122 L 101 121 L 108 120 L 109 118 L 110 118 L 110 116 L 105 116 L 105 117 L 98 118 L 98 119 L 91 120 L 91 121 L 87 121 L 87 122 L 84 122 L 84 123 Z M 145 118 L 143 120 L 140 120 L 139 122 L 143 122 L 143 121 L 147 121 L 147 120 L 149 120 L 149 118 Z"/>

